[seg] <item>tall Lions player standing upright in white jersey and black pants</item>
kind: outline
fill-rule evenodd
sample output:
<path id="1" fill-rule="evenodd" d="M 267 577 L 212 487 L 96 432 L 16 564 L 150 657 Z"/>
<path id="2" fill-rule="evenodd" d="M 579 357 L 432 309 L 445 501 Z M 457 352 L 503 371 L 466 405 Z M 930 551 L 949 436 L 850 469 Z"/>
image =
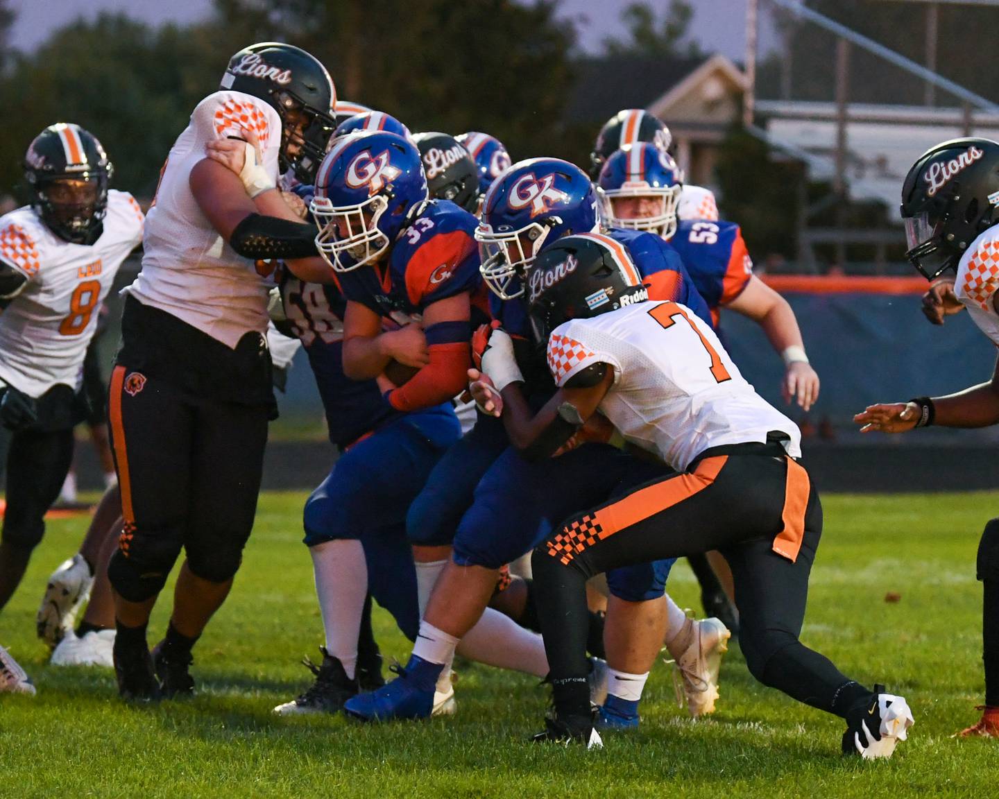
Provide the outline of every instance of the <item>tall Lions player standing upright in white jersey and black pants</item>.
<path id="1" fill-rule="evenodd" d="M 332 280 L 325 265 L 322 274 L 296 265 L 316 255 L 318 231 L 277 190 L 279 164 L 311 176 L 335 102 L 312 55 L 252 45 L 195 108 L 161 173 L 142 272 L 125 290 L 109 393 L 124 530 L 108 576 L 125 698 L 194 691 L 191 649 L 239 568 L 276 408 L 264 262 L 285 259 L 305 280 Z M 209 157 L 226 138 L 248 142 L 239 175 Z M 173 614 L 151 654 L 149 615 L 182 549 Z"/>

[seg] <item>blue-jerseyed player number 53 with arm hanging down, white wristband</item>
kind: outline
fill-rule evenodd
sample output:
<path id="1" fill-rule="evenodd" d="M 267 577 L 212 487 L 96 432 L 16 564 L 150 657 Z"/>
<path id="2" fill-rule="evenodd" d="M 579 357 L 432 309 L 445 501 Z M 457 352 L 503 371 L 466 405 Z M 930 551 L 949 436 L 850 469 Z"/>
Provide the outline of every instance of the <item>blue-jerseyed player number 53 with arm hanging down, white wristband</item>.
<path id="1" fill-rule="evenodd" d="M 808 364 L 790 305 L 752 274 L 752 261 L 733 222 L 676 220 L 683 191 L 671 159 L 637 143 L 610 155 L 600 171 L 605 214 L 614 227 L 648 231 L 679 253 L 717 328 L 721 308 L 758 323 L 785 364 L 781 393 L 804 409 L 818 399 L 819 380 Z"/>

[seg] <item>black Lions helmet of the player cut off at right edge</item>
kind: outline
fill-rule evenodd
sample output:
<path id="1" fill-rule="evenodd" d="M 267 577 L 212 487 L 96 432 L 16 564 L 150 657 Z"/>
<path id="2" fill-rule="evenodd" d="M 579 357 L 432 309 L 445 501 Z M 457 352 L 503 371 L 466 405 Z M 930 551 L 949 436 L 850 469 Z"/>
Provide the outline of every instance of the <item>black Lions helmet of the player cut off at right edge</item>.
<path id="1" fill-rule="evenodd" d="M 999 222 L 999 143 L 951 139 L 923 153 L 902 184 L 905 257 L 927 280 L 956 269 L 961 255 Z"/>

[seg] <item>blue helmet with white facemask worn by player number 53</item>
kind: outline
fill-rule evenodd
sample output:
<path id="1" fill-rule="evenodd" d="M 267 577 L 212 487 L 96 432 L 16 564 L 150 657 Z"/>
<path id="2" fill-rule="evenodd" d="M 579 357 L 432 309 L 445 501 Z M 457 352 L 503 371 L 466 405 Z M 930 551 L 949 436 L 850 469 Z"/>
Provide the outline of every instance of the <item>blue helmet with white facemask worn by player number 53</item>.
<path id="1" fill-rule="evenodd" d="M 655 145 L 638 142 L 613 153 L 600 170 L 599 187 L 611 228 L 648 231 L 663 239 L 676 233 L 676 206 L 683 184 L 676 164 Z M 648 198 L 652 208 L 646 216 L 621 216 L 615 200 L 624 197 Z"/>

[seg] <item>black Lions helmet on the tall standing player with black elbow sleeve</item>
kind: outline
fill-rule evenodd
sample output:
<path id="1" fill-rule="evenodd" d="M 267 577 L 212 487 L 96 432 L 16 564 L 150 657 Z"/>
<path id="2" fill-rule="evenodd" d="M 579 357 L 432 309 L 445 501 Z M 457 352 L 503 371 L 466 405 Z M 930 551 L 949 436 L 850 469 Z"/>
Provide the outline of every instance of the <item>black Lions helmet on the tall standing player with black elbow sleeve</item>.
<path id="1" fill-rule="evenodd" d="M 278 112 L 281 168 L 313 183 L 337 127 L 337 90 L 319 59 L 290 44 L 253 44 L 229 60 L 220 88 L 259 97 Z"/>

